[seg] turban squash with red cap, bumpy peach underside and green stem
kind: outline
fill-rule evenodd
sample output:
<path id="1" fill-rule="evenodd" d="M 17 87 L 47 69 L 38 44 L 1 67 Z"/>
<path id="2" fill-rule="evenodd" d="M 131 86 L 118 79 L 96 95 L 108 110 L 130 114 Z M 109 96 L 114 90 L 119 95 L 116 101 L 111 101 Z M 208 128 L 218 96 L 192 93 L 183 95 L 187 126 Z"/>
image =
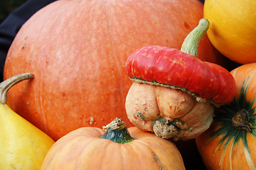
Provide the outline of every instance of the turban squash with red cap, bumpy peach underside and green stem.
<path id="1" fill-rule="evenodd" d="M 133 125 L 167 139 L 194 139 L 211 125 L 214 106 L 233 100 L 230 72 L 196 58 L 208 26 L 201 19 L 181 50 L 150 45 L 128 57 L 126 71 L 134 83 L 126 96 L 126 112 Z"/>

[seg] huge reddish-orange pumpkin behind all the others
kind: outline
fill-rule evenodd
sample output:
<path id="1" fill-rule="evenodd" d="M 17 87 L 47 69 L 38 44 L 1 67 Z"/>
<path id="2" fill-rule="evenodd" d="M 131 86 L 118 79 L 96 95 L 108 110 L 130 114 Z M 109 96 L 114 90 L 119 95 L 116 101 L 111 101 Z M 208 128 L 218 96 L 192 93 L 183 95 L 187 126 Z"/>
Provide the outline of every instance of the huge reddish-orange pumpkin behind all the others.
<path id="1" fill-rule="evenodd" d="M 180 48 L 203 17 L 198 0 L 60 0 L 32 16 L 16 35 L 4 79 L 34 75 L 9 91 L 9 106 L 57 140 L 83 126 L 122 118 L 131 81 L 124 64 L 145 45 Z M 199 58 L 218 62 L 205 36 Z"/>

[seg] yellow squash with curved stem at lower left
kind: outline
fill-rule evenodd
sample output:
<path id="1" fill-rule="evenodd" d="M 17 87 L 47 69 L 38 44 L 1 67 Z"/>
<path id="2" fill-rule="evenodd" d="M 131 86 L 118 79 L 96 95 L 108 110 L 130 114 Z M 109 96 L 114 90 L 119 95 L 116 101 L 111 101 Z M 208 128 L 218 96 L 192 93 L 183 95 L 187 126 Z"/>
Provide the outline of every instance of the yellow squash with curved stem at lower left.
<path id="1" fill-rule="evenodd" d="M 23 79 L 31 78 L 33 75 L 30 73 L 19 74 L 0 84 L 0 169 L 40 169 L 45 155 L 55 143 L 6 105 L 8 89 Z"/>

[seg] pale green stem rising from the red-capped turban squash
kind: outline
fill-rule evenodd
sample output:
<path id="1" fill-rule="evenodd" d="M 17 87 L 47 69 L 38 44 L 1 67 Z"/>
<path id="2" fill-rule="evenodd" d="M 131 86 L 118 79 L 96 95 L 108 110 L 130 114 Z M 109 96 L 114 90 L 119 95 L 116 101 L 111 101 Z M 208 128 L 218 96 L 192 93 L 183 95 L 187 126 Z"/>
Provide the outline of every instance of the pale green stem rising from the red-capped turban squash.
<path id="1" fill-rule="evenodd" d="M 205 18 L 202 18 L 199 21 L 199 25 L 192 30 L 189 35 L 185 38 L 181 51 L 186 52 L 187 54 L 194 55 L 197 57 L 197 49 L 199 46 L 200 40 L 204 37 L 209 28 L 209 21 Z"/>

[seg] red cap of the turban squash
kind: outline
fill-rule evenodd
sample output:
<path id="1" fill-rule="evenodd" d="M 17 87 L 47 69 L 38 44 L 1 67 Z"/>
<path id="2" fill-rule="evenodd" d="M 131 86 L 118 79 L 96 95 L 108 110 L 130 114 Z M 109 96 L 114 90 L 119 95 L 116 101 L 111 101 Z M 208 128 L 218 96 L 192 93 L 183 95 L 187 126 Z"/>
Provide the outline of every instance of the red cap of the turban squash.
<path id="1" fill-rule="evenodd" d="M 208 21 L 201 19 L 198 27 L 204 22 Z M 191 37 L 192 34 L 187 37 L 187 41 Z M 184 41 L 184 46 L 187 41 Z M 233 101 L 235 80 L 228 70 L 196 58 L 196 50 L 191 52 L 194 54 L 157 45 L 141 47 L 126 61 L 128 77 L 136 82 L 187 91 L 197 101 L 208 100 L 216 106 Z"/>

